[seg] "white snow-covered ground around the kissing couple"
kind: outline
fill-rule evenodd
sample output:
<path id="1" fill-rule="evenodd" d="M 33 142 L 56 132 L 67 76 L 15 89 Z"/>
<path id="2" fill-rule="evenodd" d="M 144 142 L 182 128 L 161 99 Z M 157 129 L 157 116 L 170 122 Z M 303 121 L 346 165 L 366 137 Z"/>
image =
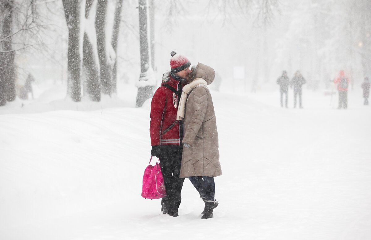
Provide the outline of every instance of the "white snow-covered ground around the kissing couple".
<path id="1" fill-rule="evenodd" d="M 149 101 L 136 89 L 100 103 L 65 98 L 65 86 L 0 108 L 0 239 L 371 239 L 371 106 L 361 89 L 347 110 L 337 93 L 304 89 L 304 109 L 279 93 L 212 92 L 223 175 L 219 206 L 188 180 L 179 217 L 140 196 L 150 158 Z"/>

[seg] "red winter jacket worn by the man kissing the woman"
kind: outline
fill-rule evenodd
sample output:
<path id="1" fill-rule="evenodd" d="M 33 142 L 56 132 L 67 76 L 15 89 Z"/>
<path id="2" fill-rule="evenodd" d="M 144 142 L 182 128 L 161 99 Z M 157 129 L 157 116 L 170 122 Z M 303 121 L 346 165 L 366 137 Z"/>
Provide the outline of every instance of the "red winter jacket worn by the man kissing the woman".
<path id="1" fill-rule="evenodd" d="M 169 85 L 175 91 L 183 88 L 183 84 L 168 74 L 164 74 L 162 84 L 152 97 L 150 136 L 151 145 L 180 145 L 183 137 L 183 126 L 177 121 L 178 95 L 164 85 Z"/>

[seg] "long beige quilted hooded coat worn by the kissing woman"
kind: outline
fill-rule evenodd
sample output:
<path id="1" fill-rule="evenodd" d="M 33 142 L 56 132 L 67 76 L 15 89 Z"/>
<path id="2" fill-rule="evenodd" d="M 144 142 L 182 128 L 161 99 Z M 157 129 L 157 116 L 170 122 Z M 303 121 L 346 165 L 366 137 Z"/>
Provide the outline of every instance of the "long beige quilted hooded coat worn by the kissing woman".
<path id="1" fill-rule="evenodd" d="M 203 78 L 207 85 L 213 82 L 214 69 L 198 63 L 195 71 L 195 80 Z M 181 178 L 221 175 L 213 100 L 205 84 L 196 86 L 185 102 L 183 143 L 191 147 L 183 147 Z"/>

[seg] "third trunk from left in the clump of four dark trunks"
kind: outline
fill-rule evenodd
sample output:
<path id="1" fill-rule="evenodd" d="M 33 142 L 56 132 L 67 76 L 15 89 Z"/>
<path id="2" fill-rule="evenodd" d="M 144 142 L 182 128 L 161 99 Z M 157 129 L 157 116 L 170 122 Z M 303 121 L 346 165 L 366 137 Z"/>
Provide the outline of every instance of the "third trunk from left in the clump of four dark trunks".
<path id="1" fill-rule="evenodd" d="M 111 68 L 108 64 L 107 46 L 106 46 L 106 13 L 107 0 L 98 0 L 95 16 L 96 41 L 98 47 L 98 58 L 100 67 L 101 88 L 104 94 L 111 96 Z"/>

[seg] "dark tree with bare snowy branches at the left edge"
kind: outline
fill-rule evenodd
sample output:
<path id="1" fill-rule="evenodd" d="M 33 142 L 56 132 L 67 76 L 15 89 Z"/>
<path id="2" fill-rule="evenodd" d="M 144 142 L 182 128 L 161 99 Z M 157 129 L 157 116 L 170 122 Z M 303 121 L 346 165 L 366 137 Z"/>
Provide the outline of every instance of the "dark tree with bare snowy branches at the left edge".
<path id="1" fill-rule="evenodd" d="M 36 0 L 0 1 L 0 106 L 16 98 L 17 53 L 42 43 L 30 43 L 40 37 Z"/>

